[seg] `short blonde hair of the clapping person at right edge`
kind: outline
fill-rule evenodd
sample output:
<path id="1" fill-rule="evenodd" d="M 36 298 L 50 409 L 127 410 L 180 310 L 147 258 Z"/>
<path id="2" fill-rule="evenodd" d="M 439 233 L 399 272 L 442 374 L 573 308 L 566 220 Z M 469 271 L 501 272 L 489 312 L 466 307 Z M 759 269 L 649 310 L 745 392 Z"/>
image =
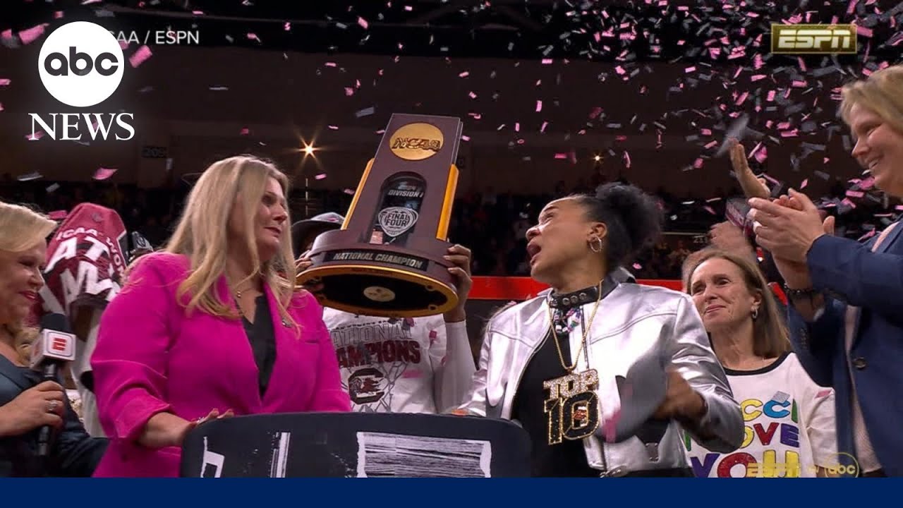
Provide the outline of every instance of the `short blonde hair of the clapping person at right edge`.
<path id="1" fill-rule="evenodd" d="M 903 64 L 872 72 L 865 80 L 843 85 L 841 118 L 850 125 L 850 111 L 859 104 L 870 109 L 891 128 L 903 133 Z"/>

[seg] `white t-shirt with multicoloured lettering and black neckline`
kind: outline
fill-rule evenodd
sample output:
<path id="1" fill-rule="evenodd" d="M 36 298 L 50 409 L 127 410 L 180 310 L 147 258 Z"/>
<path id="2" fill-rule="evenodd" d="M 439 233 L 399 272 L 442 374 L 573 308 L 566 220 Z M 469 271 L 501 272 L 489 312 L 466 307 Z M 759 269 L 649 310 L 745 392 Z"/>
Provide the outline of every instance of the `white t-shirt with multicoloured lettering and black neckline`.
<path id="1" fill-rule="evenodd" d="M 694 475 L 813 477 L 816 466 L 837 463 L 834 392 L 815 384 L 796 354 L 786 353 L 758 371 L 724 371 L 743 413 L 743 444 L 721 454 L 684 433 Z"/>

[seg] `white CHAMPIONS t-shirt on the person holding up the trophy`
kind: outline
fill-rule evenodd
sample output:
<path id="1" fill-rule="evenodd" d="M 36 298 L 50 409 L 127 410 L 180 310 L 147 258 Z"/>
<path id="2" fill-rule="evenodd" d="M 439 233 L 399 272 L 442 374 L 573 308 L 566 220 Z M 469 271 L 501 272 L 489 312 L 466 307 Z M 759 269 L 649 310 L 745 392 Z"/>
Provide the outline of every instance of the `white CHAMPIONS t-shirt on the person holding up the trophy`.
<path id="1" fill-rule="evenodd" d="M 323 309 L 342 387 L 358 412 L 442 413 L 459 406 L 476 364 L 464 322 L 389 319 Z"/>

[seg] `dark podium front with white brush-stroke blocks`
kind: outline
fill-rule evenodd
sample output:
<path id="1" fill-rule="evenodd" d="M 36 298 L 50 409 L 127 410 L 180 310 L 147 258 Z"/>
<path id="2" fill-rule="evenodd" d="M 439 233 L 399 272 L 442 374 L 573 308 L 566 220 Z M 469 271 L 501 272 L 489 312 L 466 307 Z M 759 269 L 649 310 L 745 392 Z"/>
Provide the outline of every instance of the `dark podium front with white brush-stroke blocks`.
<path id="1" fill-rule="evenodd" d="M 451 415 L 287 413 L 193 429 L 182 477 L 530 475 L 530 438 L 507 420 Z"/>

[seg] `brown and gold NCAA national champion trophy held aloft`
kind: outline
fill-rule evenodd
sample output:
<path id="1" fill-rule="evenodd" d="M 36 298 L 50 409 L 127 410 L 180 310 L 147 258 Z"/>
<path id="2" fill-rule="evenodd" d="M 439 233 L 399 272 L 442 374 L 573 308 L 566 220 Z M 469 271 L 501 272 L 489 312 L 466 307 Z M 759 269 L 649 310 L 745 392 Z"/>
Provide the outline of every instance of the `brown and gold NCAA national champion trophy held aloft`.
<path id="1" fill-rule="evenodd" d="M 383 317 L 437 315 L 458 304 L 448 242 L 461 118 L 392 115 L 340 230 L 313 243 L 298 284 L 322 306 Z"/>

